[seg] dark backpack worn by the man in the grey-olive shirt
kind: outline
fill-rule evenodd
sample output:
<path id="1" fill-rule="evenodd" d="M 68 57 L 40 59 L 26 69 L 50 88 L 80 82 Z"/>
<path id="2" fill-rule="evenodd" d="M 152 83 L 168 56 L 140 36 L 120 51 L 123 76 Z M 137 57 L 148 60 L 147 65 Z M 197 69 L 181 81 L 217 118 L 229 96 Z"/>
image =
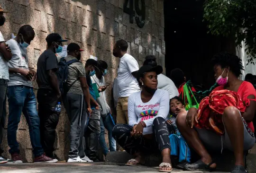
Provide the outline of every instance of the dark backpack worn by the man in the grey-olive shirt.
<path id="1" fill-rule="evenodd" d="M 67 94 L 67 92 L 69 91 L 69 89 L 71 88 L 71 86 L 73 86 L 73 84 L 79 80 L 76 79 L 70 86 L 68 86 L 67 84 L 67 78 L 68 78 L 68 66 L 70 64 L 73 64 L 74 62 L 79 62 L 78 60 L 70 60 L 67 61 L 64 60 L 64 57 L 60 59 L 59 63 L 58 63 L 58 70 L 56 72 L 58 81 L 59 81 L 59 87 L 60 87 L 60 91 L 61 91 L 61 95 L 64 96 Z"/>

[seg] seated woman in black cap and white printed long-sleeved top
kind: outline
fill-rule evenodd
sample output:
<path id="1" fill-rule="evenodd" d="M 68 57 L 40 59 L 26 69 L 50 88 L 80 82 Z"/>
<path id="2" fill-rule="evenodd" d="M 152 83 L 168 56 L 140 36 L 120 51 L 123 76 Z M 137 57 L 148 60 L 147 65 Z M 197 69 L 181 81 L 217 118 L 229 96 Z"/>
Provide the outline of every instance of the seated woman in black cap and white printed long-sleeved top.
<path id="1" fill-rule="evenodd" d="M 137 81 L 142 91 L 128 98 L 127 124 L 117 124 L 113 137 L 129 154 L 134 156 L 126 165 L 143 164 L 144 156 L 152 151 L 161 151 L 160 172 L 171 172 L 170 139 L 165 124 L 169 113 L 169 94 L 157 89 L 157 75 L 161 66 L 144 65 L 137 71 Z"/>

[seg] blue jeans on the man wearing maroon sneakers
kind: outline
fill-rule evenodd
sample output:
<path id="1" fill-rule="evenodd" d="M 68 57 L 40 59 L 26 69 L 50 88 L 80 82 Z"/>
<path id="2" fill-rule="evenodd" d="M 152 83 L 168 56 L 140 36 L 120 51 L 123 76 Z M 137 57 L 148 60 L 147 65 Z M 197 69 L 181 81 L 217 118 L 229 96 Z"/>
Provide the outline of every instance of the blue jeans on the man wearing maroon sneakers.
<path id="1" fill-rule="evenodd" d="M 23 112 L 29 129 L 31 145 L 34 155 L 41 156 L 44 150 L 40 142 L 40 120 L 37 113 L 37 99 L 33 87 L 17 85 L 8 87 L 9 118 L 7 129 L 7 140 L 10 147 L 9 153 L 19 154 L 17 142 L 18 123 L 21 112 Z"/>

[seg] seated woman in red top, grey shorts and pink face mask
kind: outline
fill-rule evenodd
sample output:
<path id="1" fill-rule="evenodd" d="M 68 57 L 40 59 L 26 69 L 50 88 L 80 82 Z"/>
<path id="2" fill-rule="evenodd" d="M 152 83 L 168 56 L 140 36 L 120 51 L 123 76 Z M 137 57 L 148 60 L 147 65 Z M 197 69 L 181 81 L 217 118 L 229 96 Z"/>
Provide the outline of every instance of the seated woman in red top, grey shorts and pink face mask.
<path id="1" fill-rule="evenodd" d="M 255 143 L 252 120 L 256 111 L 256 91 L 251 83 L 238 79 L 241 70 L 244 70 L 238 56 L 223 52 L 215 55 L 212 62 L 215 71 L 214 77 L 220 85 L 215 88 L 215 91 L 227 89 L 237 92 L 247 106 L 246 111 L 241 114 L 234 106 L 224 109 L 222 121 L 225 132 L 222 136 L 211 130 L 194 127 L 194 121 L 198 122 L 195 108 L 191 108 L 186 116 L 178 116 L 176 124 L 181 134 L 189 146 L 193 147 L 201 156 L 201 159 L 194 164 L 185 165 L 185 169 L 194 171 L 216 168 L 216 164 L 202 144 L 203 142 L 212 150 L 222 151 L 223 148 L 227 148 L 234 151 L 235 167 L 232 173 L 246 173 L 244 151 L 251 149 Z"/>

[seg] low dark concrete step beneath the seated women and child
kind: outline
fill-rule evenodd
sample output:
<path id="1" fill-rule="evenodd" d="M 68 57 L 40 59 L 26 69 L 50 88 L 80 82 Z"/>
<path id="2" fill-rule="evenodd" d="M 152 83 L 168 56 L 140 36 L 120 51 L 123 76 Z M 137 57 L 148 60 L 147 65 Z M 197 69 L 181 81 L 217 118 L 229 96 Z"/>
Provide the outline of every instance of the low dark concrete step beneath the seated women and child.
<path id="1" fill-rule="evenodd" d="M 217 164 L 217 171 L 219 172 L 231 172 L 234 167 L 235 159 L 234 155 L 230 151 L 223 151 L 220 153 L 210 153 L 212 158 Z M 113 151 L 109 152 L 106 156 L 106 162 L 111 164 L 124 165 L 129 159 L 131 159 L 125 151 Z M 192 162 L 195 162 L 199 157 L 192 158 Z M 146 156 L 146 166 L 158 166 L 162 162 L 160 153 L 151 154 Z M 249 173 L 256 173 L 256 154 L 248 154 L 246 157 L 247 171 Z"/>

